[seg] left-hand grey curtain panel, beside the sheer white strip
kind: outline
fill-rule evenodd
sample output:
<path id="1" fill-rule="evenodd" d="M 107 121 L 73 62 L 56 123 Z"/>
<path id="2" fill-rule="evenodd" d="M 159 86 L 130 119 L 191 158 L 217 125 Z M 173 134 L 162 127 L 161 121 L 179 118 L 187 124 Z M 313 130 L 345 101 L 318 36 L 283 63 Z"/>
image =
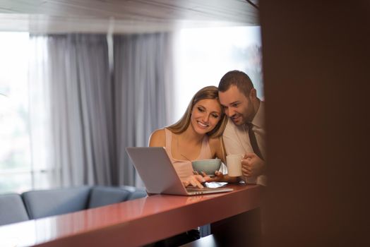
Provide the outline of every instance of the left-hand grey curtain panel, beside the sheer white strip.
<path id="1" fill-rule="evenodd" d="M 31 40 L 44 40 L 47 46 L 47 63 L 37 66 L 43 71 L 38 76 L 47 81 L 41 90 L 47 95 L 46 154 L 52 186 L 112 184 L 115 155 L 106 35 L 31 36 Z M 36 88 L 40 83 L 30 85 Z"/>

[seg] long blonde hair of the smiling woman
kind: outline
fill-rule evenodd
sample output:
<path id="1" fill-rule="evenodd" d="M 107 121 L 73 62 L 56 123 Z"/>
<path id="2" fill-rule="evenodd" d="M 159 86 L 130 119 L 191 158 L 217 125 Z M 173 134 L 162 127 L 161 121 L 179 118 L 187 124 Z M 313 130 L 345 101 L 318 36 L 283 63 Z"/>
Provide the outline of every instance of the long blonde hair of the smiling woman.
<path id="1" fill-rule="evenodd" d="M 167 128 L 173 133 L 177 134 L 186 131 L 190 124 L 191 111 L 193 110 L 193 106 L 201 100 L 217 100 L 217 102 L 220 104 L 220 100 L 218 100 L 218 88 L 215 86 L 208 86 L 196 92 L 196 94 L 191 99 L 188 107 L 186 108 L 184 115 L 181 116 L 181 119 L 177 121 L 177 123 L 174 123 L 171 126 L 168 126 Z M 215 126 L 215 128 L 213 128 L 212 131 L 207 133 L 207 135 L 210 138 L 216 138 L 221 136 L 225 130 L 226 123 L 227 118 L 223 108 L 221 107 L 220 121 L 217 123 L 217 125 Z"/>

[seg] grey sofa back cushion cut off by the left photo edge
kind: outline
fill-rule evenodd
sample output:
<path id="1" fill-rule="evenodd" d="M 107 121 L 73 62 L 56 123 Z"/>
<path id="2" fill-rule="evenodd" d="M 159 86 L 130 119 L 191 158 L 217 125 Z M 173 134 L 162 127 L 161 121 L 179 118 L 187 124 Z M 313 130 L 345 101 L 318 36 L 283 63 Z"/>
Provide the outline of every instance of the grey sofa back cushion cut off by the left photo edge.
<path id="1" fill-rule="evenodd" d="M 0 195 L 0 225 L 28 220 L 22 198 L 16 193 Z"/>

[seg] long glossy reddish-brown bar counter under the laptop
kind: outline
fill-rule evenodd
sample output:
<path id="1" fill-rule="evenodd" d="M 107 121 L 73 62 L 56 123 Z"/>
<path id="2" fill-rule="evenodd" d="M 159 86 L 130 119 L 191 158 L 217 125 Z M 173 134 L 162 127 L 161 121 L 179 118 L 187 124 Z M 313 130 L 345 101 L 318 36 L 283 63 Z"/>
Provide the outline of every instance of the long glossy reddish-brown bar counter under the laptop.
<path id="1" fill-rule="evenodd" d="M 243 183 L 227 187 L 234 191 L 192 196 L 151 195 L 9 224 L 0 227 L 0 246 L 143 246 L 213 222 L 216 222 L 213 231 L 222 231 L 229 219 L 258 209 L 263 190 L 261 186 Z"/>

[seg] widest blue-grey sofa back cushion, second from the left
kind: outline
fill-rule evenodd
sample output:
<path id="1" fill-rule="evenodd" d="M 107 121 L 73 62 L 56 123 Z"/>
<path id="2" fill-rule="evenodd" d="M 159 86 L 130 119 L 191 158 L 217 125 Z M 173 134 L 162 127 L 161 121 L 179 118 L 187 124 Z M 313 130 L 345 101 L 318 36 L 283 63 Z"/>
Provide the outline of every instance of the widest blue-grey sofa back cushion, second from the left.
<path id="1" fill-rule="evenodd" d="M 62 215 L 88 207 L 90 186 L 58 188 L 22 193 L 30 219 Z"/>

